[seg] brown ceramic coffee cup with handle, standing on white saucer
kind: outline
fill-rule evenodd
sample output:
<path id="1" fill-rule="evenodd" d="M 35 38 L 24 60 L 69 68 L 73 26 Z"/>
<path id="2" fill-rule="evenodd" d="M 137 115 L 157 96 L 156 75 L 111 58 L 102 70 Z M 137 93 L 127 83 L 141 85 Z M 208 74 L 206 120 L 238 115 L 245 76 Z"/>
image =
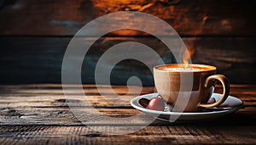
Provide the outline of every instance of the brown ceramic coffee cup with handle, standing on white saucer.
<path id="1" fill-rule="evenodd" d="M 229 96 L 230 83 L 217 68 L 206 64 L 164 64 L 154 67 L 154 85 L 160 96 L 173 106 L 175 112 L 195 112 L 217 107 Z M 223 86 L 222 97 L 214 103 L 211 98 L 216 81 Z"/>

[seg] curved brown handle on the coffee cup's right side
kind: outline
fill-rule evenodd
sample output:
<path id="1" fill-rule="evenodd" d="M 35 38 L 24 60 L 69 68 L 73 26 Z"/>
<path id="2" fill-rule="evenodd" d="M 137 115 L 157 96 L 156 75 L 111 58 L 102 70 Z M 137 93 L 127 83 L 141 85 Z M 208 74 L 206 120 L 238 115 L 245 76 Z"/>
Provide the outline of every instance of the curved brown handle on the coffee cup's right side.
<path id="1" fill-rule="evenodd" d="M 230 94 L 230 82 L 224 75 L 210 75 L 207 77 L 205 87 L 210 87 L 213 85 L 212 81 L 218 80 L 221 82 L 223 86 L 223 94 L 222 97 L 216 103 L 201 103 L 199 107 L 203 108 L 212 108 L 224 103 L 224 101 L 228 98 Z"/>

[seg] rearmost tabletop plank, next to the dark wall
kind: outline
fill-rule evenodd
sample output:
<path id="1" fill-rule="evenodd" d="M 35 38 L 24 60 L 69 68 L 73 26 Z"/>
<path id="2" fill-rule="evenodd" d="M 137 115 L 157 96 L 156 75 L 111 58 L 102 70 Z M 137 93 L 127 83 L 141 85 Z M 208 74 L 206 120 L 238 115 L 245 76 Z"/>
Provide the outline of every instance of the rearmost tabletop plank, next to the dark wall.
<path id="1" fill-rule="evenodd" d="M 86 98 L 81 98 L 79 94 L 75 95 L 77 92 L 77 85 L 69 85 L 69 92 L 71 92 L 72 98 L 65 98 L 61 85 L 57 84 L 38 84 L 38 85 L 12 85 L 12 86 L 0 86 L 0 97 L 2 107 L 17 107 L 20 105 L 28 105 L 28 106 L 41 106 L 41 107 L 49 107 L 49 106 L 59 106 L 65 107 L 68 103 L 79 103 L 84 100 L 89 101 L 96 107 L 106 107 L 113 106 L 111 103 L 116 97 L 112 95 L 112 91 L 110 89 L 113 88 L 113 92 L 117 94 L 126 94 L 128 89 L 126 86 L 112 86 L 112 88 L 107 87 L 106 85 L 101 85 L 98 89 L 101 89 L 108 100 L 106 98 L 102 98 L 98 93 L 95 85 L 84 85 L 84 92 L 89 92 L 86 95 Z M 52 87 L 49 89 L 49 87 Z M 154 92 L 154 87 L 146 87 L 144 86 L 142 92 L 137 92 L 138 86 L 130 86 L 130 93 L 125 95 L 123 98 L 119 98 L 122 101 L 121 106 L 130 106 L 131 98 L 136 97 L 139 94 L 146 94 Z M 236 98 L 241 98 L 242 101 L 245 102 L 246 106 L 254 105 L 256 102 L 256 86 L 255 85 L 231 85 L 230 86 L 230 95 L 235 96 Z M 46 93 L 45 93 L 46 92 Z M 217 85 L 215 87 L 215 92 L 221 93 L 222 86 Z M 80 94 L 81 95 L 81 94 Z M 66 100 L 67 99 L 67 100 Z M 115 106 L 118 107 L 118 106 Z"/>

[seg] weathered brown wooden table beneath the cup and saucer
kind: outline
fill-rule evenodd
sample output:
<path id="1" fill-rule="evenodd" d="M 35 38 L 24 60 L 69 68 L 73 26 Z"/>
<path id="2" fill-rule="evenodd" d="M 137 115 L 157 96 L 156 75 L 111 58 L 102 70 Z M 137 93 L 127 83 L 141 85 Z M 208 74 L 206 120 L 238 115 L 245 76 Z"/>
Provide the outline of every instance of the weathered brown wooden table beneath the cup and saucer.
<path id="1" fill-rule="evenodd" d="M 112 87 L 119 94 L 127 92 L 125 86 Z M 71 89 L 75 92 L 76 86 Z M 137 89 L 134 86 L 131 92 Z M 123 105 L 112 106 L 99 97 L 96 86 L 84 85 L 84 90 L 103 114 L 127 117 L 139 113 L 130 105 L 135 96 L 125 95 Z M 142 94 L 149 92 L 154 87 L 144 87 Z M 215 92 L 221 92 L 221 87 Z M 0 86 L 0 144 L 256 144 L 256 86 L 231 85 L 230 94 L 241 98 L 245 106 L 234 114 L 193 123 L 155 120 L 131 134 L 109 135 L 90 129 L 73 115 L 61 85 Z M 108 129 L 108 123 L 96 126 Z"/>

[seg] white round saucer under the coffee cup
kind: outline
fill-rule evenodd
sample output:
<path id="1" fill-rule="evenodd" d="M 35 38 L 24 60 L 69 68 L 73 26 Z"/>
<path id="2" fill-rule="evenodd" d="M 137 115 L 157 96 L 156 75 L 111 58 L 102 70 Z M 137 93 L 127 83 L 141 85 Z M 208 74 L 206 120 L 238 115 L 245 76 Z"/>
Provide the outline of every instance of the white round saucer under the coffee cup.
<path id="1" fill-rule="evenodd" d="M 195 120 L 206 120 L 212 119 L 215 117 L 223 116 L 224 114 L 230 114 L 235 112 L 238 109 L 241 109 L 243 106 L 242 101 L 239 98 L 235 98 L 229 96 L 224 103 L 222 103 L 218 108 L 211 108 L 205 109 L 204 112 L 167 112 L 167 111 L 157 111 L 152 109 L 145 109 L 143 106 L 138 102 L 141 98 L 154 98 L 158 95 L 158 93 L 149 93 L 146 95 L 138 96 L 136 98 L 131 99 L 131 106 L 135 109 L 143 111 L 143 113 L 148 114 L 150 116 L 155 117 L 159 120 L 165 121 L 195 121 Z M 215 98 L 216 101 L 221 97 L 222 94 L 213 93 L 212 98 Z"/>

